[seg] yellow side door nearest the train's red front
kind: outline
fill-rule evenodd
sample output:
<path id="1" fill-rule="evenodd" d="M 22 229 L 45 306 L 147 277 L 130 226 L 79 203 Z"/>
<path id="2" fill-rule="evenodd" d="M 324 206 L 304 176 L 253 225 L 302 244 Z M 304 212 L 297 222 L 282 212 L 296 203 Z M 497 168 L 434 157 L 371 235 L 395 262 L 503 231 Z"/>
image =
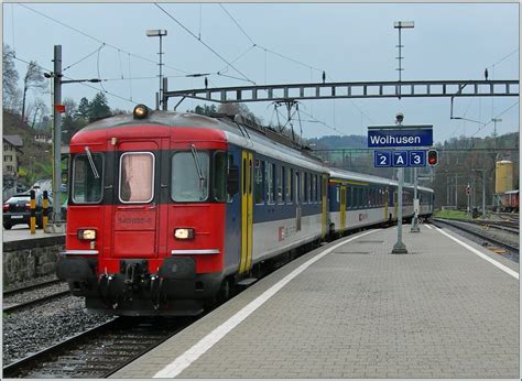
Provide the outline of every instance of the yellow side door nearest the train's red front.
<path id="1" fill-rule="evenodd" d="M 253 154 L 243 151 L 241 155 L 241 259 L 239 273 L 246 273 L 252 266 L 252 172 Z"/>

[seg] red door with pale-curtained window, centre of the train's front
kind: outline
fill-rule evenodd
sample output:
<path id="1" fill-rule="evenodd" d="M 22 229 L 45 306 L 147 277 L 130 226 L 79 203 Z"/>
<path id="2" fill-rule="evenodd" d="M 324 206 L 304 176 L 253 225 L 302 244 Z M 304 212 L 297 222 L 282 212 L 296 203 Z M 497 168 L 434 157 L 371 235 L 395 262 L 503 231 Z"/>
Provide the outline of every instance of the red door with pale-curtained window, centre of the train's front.
<path id="1" fill-rule="evenodd" d="M 160 150 L 156 141 L 118 145 L 112 210 L 112 257 L 157 258 Z"/>

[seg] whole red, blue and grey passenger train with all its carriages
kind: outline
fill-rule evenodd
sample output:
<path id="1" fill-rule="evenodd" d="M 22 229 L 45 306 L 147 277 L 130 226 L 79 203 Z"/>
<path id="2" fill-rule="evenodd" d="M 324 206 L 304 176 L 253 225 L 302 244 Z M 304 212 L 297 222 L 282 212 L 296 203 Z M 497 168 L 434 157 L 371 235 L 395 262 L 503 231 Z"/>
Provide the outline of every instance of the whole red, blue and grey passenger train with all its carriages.
<path id="1" fill-rule="evenodd" d="M 140 105 L 76 133 L 69 163 L 56 272 L 115 315 L 199 314 L 261 264 L 398 215 L 395 182 L 330 168 L 241 117 Z M 418 192 L 431 215 L 433 190 Z"/>

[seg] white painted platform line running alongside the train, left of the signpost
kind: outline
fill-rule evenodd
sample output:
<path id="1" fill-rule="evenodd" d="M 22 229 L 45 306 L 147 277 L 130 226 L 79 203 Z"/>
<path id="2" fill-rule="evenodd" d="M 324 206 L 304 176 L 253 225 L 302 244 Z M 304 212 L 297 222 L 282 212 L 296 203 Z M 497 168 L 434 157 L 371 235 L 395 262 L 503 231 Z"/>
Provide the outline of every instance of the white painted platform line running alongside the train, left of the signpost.
<path id="1" fill-rule="evenodd" d="M 263 292 L 261 295 L 259 295 L 257 298 L 254 298 L 252 302 L 247 304 L 244 307 L 242 307 L 239 312 L 237 312 L 235 315 L 232 315 L 228 320 L 222 323 L 220 326 L 215 328 L 211 333 L 206 335 L 203 339 L 200 339 L 198 342 L 196 342 L 194 346 L 192 346 L 189 349 L 187 349 L 183 355 L 177 357 L 173 362 L 164 367 L 162 370 L 157 371 L 153 378 L 175 378 L 181 372 L 183 372 L 185 369 L 187 369 L 194 361 L 196 361 L 199 357 L 202 357 L 207 350 L 209 350 L 211 347 L 214 347 L 215 344 L 217 344 L 220 339 L 222 339 L 229 331 L 231 331 L 236 326 L 238 326 L 242 320 L 244 320 L 250 314 L 252 314 L 255 309 L 258 309 L 260 306 L 262 306 L 270 297 L 272 297 L 278 291 L 283 289 L 290 281 L 292 281 L 295 276 L 301 274 L 303 271 L 305 271 L 309 265 L 313 263 L 317 262 L 319 259 L 327 255 L 338 247 L 348 243 L 352 240 L 356 240 L 360 237 L 367 236 L 369 233 L 379 231 L 381 229 L 374 229 L 367 231 L 362 235 L 358 235 L 356 237 L 348 238 L 344 240 L 342 242 L 339 242 L 337 244 L 334 244 L 331 248 L 326 249 L 324 252 L 320 254 L 317 254 L 316 257 L 309 259 L 305 263 L 301 264 L 297 269 L 293 270 L 290 274 L 287 274 L 285 277 L 283 277 L 281 281 L 279 281 L 276 284 L 271 286 L 269 290 Z"/>

